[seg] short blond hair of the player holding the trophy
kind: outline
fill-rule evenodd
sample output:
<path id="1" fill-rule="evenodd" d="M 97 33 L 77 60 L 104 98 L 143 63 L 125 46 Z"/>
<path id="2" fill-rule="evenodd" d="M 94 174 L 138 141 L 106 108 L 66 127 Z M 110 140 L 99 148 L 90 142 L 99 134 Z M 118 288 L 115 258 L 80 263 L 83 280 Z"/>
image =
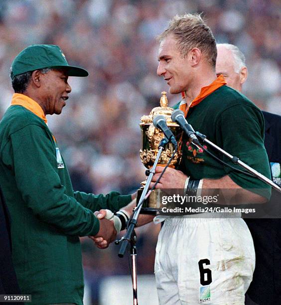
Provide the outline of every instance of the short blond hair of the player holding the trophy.
<path id="1" fill-rule="evenodd" d="M 192 48 L 198 48 L 208 63 L 216 66 L 217 47 L 215 37 L 200 14 L 175 15 L 169 26 L 157 36 L 162 41 L 172 34 L 177 40 L 177 46 L 182 56 L 186 56 Z"/>

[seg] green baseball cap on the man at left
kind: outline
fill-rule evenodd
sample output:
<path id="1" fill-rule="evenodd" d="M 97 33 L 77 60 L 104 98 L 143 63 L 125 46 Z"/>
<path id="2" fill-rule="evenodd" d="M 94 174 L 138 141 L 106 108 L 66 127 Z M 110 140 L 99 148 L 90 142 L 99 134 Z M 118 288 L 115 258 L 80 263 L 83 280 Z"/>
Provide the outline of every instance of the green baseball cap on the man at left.
<path id="1" fill-rule="evenodd" d="M 88 76 L 87 70 L 70 66 L 58 45 L 32 44 L 16 55 L 11 66 L 11 77 L 44 68 L 67 68 L 69 76 Z"/>

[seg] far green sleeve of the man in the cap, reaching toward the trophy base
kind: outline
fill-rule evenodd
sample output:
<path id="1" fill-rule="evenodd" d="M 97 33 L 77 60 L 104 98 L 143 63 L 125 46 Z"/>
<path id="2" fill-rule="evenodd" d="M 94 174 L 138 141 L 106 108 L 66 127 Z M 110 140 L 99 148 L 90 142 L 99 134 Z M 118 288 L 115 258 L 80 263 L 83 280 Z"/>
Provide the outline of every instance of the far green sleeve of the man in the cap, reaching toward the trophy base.
<path id="1" fill-rule="evenodd" d="M 131 195 L 120 195 L 118 192 L 110 192 L 107 195 L 94 195 L 84 192 L 74 192 L 75 199 L 84 207 L 91 211 L 99 211 L 100 209 L 109 209 L 111 211 L 118 211 L 132 201 Z"/>

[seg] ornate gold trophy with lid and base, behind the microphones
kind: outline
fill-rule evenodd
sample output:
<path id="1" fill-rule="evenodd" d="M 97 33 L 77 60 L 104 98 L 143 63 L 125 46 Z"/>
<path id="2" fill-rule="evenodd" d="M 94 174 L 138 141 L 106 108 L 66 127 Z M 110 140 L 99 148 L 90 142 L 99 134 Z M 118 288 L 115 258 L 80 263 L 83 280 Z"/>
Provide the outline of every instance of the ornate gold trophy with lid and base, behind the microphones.
<path id="1" fill-rule="evenodd" d="M 162 96 L 160 98 L 160 107 L 155 107 L 151 110 L 148 116 L 142 116 L 140 118 L 140 130 L 141 130 L 141 146 L 140 159 L 146 168 L 152 167 L 156 155 L 158 152 L 158 147 L 162 139 L 164 139 L 164 134 L 153 125 L 153 119 L 156 116 L 163 116 L 166 120 L 166 124 L 175 136 L 177 141 L 178 151 L 175 153 L 173 159 L 171 160 L 169 166 L 176 167 L 181 160 L 181 138 L 182 131 L 177 123 L 172 122 L 171 113 L 172 108 L 168 107 L 168 99 L 166 92 L 161 92 Z M 168 163 L 169 158 L 174 152 L 174 147 L 171 143 L 166 144 L 165 150 L 162 151 L 161 156 L 157 165 L 165 166 Z M 146 181 L 141 182 L 142 187 L 138 190 L 137 204 L 140 200 L 140 196 L 143 190 L 143 186 Z M 164 192 L 160 189 L 154 189 L 149 197 L 143 201 L 140 213 L 156 215 L 159 208 L 161 208 L 161 197 Z"/>

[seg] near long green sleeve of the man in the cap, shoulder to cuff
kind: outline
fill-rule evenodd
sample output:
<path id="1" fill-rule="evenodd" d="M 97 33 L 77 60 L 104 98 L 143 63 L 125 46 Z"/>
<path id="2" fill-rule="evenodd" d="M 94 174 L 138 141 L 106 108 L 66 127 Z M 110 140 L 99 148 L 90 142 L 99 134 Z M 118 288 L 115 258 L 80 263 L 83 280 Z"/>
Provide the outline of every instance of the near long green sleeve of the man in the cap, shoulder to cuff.
<path id="1" fill-rule="evenodd" d="M 65 194 L 47 131 L 27 125 L 13 133 L 10 142 L 16 186 L 35 216 L 67 235 L 96 235 L 99 220 L 93 212 Z"/>

